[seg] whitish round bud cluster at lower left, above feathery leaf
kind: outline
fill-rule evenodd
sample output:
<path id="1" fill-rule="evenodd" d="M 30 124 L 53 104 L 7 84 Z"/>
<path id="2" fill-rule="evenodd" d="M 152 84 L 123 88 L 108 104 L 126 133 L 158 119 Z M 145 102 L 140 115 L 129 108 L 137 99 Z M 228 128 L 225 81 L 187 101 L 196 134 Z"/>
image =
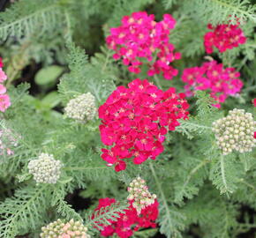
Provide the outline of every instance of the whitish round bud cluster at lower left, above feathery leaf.
<path id="1" fill-rule="evenodd" d="M 60 160 L 54 160 L 52 154 L 42 152 L 37 160 L 29 161 L 27 167 L 36 182 L 56 183 L 63 164 Z"/>

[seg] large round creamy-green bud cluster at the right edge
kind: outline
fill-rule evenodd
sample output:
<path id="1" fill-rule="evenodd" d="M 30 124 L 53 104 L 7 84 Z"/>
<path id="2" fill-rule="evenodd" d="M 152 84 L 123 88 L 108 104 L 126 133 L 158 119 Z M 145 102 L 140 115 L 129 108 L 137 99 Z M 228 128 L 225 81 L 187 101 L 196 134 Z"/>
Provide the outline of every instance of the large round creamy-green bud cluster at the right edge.
<path id="1" fill-rule="evenodd" d="M 256 122 L 244 109 L 233 109 L 229 115 L 213 123 L 217 145 L 224 155 L 232 152 L 251 152 L 256 145 L 253 138 Z"/>

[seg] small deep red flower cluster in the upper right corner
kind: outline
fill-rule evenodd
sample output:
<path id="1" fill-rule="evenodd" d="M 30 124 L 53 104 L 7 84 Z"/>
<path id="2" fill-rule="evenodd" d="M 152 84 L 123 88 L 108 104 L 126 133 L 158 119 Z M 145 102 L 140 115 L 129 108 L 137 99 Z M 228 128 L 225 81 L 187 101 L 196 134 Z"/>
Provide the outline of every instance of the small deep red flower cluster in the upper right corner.
<path id="1" fill-rule="evenodd" d="M 226 51 L 228 48 L 238 47 L 239 44 L 245 44 L 246 37 L 241 28 L 236 25 L 222 24 L 218 26 L 208 25 L 208 29 L 213 30 L 205 34 L 205 48 L 207 54 L 213 53 L 214 46 L 220 52 Z"/>

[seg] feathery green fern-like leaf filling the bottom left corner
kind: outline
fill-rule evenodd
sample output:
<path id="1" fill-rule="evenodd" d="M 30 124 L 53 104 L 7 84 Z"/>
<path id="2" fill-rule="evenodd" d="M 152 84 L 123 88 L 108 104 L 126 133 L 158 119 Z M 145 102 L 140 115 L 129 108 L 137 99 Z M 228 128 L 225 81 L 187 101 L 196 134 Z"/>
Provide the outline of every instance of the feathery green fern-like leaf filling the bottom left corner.
<path id="1" fill-rule="evenodd" d="M 13 238 L 39 227 L 49 207 L 49 186 L 26 187 L 0 204 L 0 236 Z"/>

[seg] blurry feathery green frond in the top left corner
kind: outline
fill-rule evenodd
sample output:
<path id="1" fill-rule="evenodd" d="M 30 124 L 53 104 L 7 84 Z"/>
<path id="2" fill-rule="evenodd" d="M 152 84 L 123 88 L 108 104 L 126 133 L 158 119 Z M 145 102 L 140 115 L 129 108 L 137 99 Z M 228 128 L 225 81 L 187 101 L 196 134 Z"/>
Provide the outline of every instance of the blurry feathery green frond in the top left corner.
<path id="1" fill-rule="evenodd" d="M 0 16 L 0 40 L 14 37 L 20 41 L 25 35 L 51 33 L 64 22 L 58 2 L 23 0 L 12 4 Z"/>

